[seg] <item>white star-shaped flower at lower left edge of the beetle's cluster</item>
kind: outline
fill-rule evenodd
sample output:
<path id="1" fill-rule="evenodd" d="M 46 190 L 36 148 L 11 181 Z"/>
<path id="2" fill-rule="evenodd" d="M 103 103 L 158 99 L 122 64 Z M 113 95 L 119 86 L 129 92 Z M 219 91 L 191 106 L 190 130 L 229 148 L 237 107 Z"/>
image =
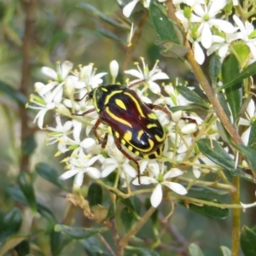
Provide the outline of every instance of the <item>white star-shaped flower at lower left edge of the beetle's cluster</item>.
<path id="1" fill-rule="evenodd" d="M 101 177 L 101 172 L 96 167 L 92 167 L 96 160 L 100 160 L 100 158 L 102 158 L 102 155 L 100 154 L 91 158 L 85 158 L 83 155 L 79 156 L 78 159 L 72 158 L 70 160 L 70 165 L 72 167 L 67 172 L 64 172 L 60 178 L 67 179 L 75 176 L 74 184 L 81 187 L 84 181 L 84 173 L 88 173 L 94 178 Z"/>

